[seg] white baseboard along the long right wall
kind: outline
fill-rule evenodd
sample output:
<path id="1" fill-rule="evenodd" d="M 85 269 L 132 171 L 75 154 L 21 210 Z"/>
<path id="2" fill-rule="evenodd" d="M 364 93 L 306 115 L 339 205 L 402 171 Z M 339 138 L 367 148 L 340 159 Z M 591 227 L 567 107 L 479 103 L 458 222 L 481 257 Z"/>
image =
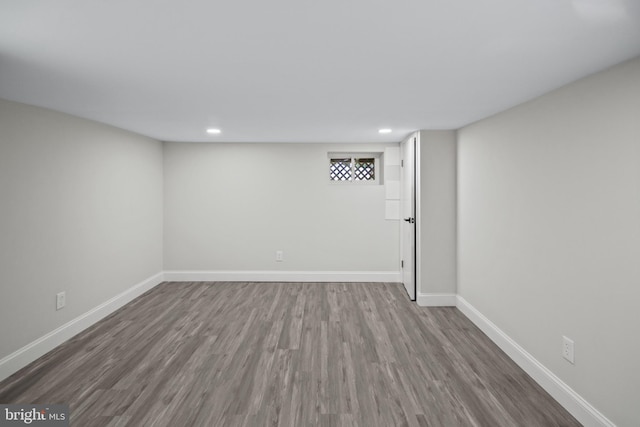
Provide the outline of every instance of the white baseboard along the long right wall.
<path id="1" fill-rule="evenodd" d="M 458 309 L 585 427 L 615 427 L 582 396 L 458 295 Z"/>

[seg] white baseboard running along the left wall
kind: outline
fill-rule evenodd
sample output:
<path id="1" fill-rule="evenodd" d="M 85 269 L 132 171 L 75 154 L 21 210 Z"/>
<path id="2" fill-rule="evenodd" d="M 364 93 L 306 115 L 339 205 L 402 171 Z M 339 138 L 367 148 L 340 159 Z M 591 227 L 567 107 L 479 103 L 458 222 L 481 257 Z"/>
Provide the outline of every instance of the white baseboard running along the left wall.
<path id="1" fill-rule="evenodd" d="M 149 289 L 162 283 L 163 280 L 163 273 L 158 273 L 149 277 L 148 279 L 116 295 L 110 300 L 49 332 L 43 337 L 38 338 L 21 349 L 0 359 L 0 381 L 18 372 L 29 363 L 44 356 L 63 342 L 79 334 L 99 320 L 107 317 L 109 314 L 139 297 Z"/>

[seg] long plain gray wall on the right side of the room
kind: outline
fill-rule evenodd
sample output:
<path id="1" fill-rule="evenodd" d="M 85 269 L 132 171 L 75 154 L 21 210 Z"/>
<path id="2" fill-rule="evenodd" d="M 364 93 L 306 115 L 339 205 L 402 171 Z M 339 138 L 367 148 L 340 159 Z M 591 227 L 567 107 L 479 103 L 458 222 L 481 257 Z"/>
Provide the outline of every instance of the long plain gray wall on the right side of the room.
<path id="1" fill-rule="evenodd" d="M 640 425 L 639 118 L 635 59 L 458 132 L 459 294 L 620 426 Z"/>

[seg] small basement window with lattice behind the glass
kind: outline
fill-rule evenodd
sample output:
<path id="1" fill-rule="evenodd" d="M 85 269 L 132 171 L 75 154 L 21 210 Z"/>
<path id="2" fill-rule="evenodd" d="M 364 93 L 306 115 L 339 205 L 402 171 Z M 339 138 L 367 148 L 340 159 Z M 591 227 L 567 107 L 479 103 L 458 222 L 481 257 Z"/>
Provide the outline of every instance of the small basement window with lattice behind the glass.
<path id="1" fill-rule="evenodd" d="M 329 180 L 332 182 L 379 183 L 379 154 L 329 153 Z"/>

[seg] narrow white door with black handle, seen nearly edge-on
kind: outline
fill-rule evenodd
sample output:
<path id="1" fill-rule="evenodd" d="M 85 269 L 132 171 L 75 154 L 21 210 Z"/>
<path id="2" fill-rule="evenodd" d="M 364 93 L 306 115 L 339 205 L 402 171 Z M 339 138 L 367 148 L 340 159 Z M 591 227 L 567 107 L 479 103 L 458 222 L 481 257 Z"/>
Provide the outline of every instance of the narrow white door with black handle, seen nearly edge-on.
<path id="1" fill-rule="evenodd" d="M 416 137 L 400 146 L 400 245 L 402 249 L 402 283 L 409 298 L 416 300 Z"/>

